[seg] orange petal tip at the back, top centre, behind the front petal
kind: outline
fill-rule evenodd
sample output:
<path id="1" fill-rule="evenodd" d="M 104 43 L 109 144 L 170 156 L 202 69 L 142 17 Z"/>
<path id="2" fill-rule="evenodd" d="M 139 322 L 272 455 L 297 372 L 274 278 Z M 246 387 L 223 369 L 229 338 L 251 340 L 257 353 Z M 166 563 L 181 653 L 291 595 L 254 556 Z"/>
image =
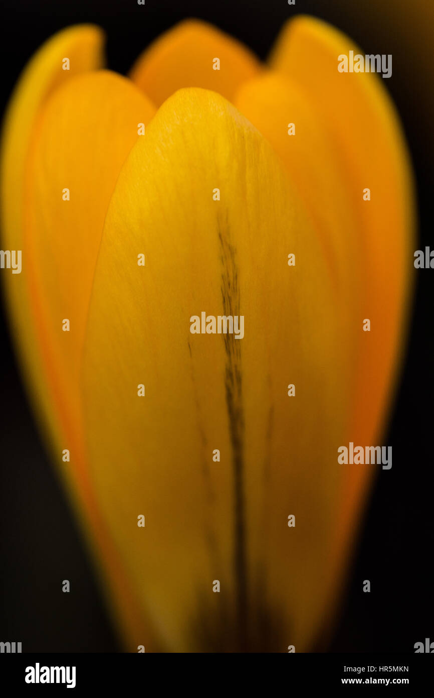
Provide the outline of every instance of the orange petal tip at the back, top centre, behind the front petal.
<path id="1" fill-rule="evenodd" d="M 241 43 L 206 22 L 187 20 L 157 38 L 130 77 L 159 106 L 181 87 L 205 87 L 231 99 L 258 70 L 258 60 Z"/>

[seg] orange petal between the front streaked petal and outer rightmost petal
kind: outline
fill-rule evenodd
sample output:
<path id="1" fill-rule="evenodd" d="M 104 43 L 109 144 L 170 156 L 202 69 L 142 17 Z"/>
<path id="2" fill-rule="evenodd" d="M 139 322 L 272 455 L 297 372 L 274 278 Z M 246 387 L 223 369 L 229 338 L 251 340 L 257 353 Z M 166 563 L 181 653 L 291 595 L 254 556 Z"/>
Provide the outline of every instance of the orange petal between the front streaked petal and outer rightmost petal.
<path id="1" fill-rule="evenodd" d="M 272 71 L 243 83 L 233 103 L 283 161 L 320 235 L 336 288 L 336 304 L 348 322 L 348 312 L 354 314 L 360 295 L 358 272 L 348 265 L 348 257 L 359 252 L 359 241 L 348 236 L 354 216 L 348 201 L 336 197 L 336 191 L 345 186 L 344 173 L 321 120 L 302 89 Z"/>

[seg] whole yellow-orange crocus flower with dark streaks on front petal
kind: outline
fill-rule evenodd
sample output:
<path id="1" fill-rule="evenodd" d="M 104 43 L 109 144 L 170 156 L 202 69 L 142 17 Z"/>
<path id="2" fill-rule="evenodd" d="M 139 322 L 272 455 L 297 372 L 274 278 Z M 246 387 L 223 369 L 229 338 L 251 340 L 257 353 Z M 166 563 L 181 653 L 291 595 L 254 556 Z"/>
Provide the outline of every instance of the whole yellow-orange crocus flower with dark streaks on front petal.
<path id="1" fill-rule="evenodd" d="M 384 431 L 414 235 L 394 107 L 350 50 L 296 17 L 261 65 L 189 20 L 126 78 L 83 25 L 10 101 L 11 327 L 130 651 L 309 651 L 330 623 L 377 467 L 337 449 Z M 202 313 L 244 336 L 192 334 Z"/>

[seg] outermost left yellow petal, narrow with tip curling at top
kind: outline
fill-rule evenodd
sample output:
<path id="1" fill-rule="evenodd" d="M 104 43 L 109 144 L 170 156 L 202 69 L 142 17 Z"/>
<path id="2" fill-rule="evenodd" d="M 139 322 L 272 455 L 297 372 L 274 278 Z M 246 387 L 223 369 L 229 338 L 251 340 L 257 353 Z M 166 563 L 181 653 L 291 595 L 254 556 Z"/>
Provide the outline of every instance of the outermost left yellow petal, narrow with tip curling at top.
<path id="1" fill-rule="evenodd" d="M 74 75 L 95 70 L 102 64 L 102 31 L 82 24 L 60 31 L 50 38 L 29 61 L 8 105 L 1 141 L 1 240 L 3 249 L 22 251 L 22 273 L 2 274 L 13 326 L 13 337 L 26 373 L 38 418 L 50 438 L 56 432 L 56 418 L 40 371 L 29 307 L 29 259 L 23 244 L 24 177 L 29 147 L 42 105 L 49 94 Z M 70 70 L 63 70 L 63 59 Z"/>

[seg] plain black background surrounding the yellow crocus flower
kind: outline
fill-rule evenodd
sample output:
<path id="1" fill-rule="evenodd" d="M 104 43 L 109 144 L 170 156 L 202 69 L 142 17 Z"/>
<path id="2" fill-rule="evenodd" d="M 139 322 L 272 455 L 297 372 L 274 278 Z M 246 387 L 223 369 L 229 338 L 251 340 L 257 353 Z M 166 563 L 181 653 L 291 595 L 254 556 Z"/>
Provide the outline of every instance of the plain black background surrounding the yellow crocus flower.
<path id="1" fill-rule="evenodd" d="M 216 24 L 261 58 L 283 22 L 299 12 L 322 17 L 346 31 L 366 52 L 392 53 L 393 75 L 384 82 L 401 114 L 417 176 L 417 247 L 431 243 L 434 114 L 427 95 L 433 89 L 433 73 L 409 50 L 417 46 L 426 21 L 417 7 L 410 7 L 412 3 L 406 3 L 408 16 L 401 20 L 396 17 L 396 3 L 388 0 L 297 0 L 295 7 L 286 0 L 146 0 L 146 6 L 137 6 L 136 0 L 2 0 L 1 4 L 3 32 L 8 34 L 2 61 L 3 105 L 42 41 L 79 22 L 95 22 L 105 29 L 109 67 L 121 73 L 150 40 L 186 17 Z M 394 464 L 392 470 L 380 470 L 334 634 L 318 637 L 319 651 L 413 652 L 414 642 L 425 637 L 434 641 L 432 274 L 417 272 L 405 371 L 383 440 L 393 447 Z M 3 312 L 0 320 L 0 640 L 22 641 L 27 652 L 119 651 L 77 526 L 36 433 Z M 61 592 L 62 579 L 70 579 L 71 593 Z M 370 594 L 362 592 L 363 579 L 371 580 Z"/>

